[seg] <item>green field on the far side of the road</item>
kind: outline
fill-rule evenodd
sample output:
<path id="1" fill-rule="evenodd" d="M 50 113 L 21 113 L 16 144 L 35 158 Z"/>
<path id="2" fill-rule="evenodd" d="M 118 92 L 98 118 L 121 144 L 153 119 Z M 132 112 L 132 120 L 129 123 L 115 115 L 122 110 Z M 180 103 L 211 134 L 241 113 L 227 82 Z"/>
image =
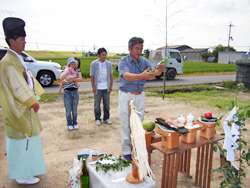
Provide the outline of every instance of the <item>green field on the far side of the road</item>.
<path id="1" fill-rule="evenodd" d="M 78 57 L 81 60 L 81 72 L 84 79 L 89 79 L 90 64 L 98 57 L 82 57 L 82 52 L 50 52 L 50 51 L 27 51 L 32 57 L 37 60 L 59 63 L 61 66 L 67 65 L 67 59 L 69 57 Z M 114 54 L 108 53 L 107 59 L 112 57 L 113 59 L 119 59 L 120 56 L 114 56 Z M 118 72 L 114 71 L 114 79 L 119 77 Z M 236 72 L 236 64 L 220 64 L 220 63 L 206 63 L 206 62 L 184 62 L 183 75 L 190 74 L 205 74 L 205 73 L 225 73 Z"/>

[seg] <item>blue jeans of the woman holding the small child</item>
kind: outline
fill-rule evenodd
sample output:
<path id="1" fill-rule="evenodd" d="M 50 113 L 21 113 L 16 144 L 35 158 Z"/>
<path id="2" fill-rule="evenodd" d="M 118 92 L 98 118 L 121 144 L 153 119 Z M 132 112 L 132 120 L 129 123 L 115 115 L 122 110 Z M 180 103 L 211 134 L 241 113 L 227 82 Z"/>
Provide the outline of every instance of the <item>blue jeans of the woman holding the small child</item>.
<path id="1" fill-rule="evenodd" d="M 64 89 L 63 102 L 66 111 L 67 126 L 77 125 L 78 101 L 79 101 L 78 89 L 73 91 Z"/>

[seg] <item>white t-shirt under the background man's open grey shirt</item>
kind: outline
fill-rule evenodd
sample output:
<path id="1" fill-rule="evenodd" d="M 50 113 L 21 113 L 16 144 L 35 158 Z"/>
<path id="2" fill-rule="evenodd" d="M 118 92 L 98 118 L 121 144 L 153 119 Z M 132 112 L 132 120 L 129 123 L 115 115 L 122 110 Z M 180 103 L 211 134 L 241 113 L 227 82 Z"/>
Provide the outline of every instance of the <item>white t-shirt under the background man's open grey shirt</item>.
<path id="1" fill-rule="evenodd" d="M 97 89 L 104 90 L 108 89 L 108 82 L 107 82 L 107 64 L 106 62 L 99 61 L 99 72 L 98 72 L 98 82 L 97 82 Z"/>

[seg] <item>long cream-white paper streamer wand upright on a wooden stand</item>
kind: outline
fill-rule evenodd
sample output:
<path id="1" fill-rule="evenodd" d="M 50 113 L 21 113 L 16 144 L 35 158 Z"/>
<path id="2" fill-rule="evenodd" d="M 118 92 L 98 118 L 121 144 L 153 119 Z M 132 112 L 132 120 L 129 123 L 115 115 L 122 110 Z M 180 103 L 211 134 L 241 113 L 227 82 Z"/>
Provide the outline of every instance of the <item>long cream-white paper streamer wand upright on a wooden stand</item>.
<path id="1" fill-rule="evenodd" d="M 139 118 L 136 108 L 133 105 L 133 100 L 130 100 L 130 128 L 133 155 L 132 159 L 138 168 L 140 180 L 143 180 L 147 175 L 155 179 L 153 172 L 148 164 L 148 152 L 145 141 L 145 130 L 143 129 L 141 119 Z"/>

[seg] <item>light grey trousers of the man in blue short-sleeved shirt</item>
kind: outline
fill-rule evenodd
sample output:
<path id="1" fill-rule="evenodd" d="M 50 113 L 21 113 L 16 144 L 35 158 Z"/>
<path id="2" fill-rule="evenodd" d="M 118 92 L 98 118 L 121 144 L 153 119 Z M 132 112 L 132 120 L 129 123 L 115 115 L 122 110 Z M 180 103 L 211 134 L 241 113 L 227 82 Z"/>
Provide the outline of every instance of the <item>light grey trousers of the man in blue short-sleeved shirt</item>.
<path id="1" fill-rule="evenodd" d="M 141 121 L 144 120 L 144 111 L 145 111 L 145 93 L 142 92 L 140 95 L 134 95 L 130 93 L 125 93 L 119 91 L 119 118 L 121 121 L 121 144 L 122 152 L 124 155 L 131 154 L 131 129 L 130 129 L 130 109 L 129 109 L 129 100 L 134 101 L 136 110 L 140 112 L 139 117 Z"/>

